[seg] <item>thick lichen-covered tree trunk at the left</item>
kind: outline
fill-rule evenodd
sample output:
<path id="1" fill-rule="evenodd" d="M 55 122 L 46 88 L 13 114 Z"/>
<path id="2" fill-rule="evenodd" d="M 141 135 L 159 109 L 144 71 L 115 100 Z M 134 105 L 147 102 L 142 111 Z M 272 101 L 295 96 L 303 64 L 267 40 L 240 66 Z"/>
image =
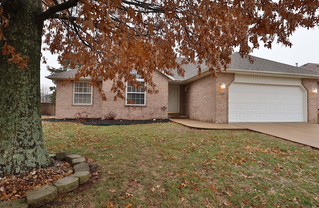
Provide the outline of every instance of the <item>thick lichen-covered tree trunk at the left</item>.
<path id="1" fill-rule="evenodd" d="M 40 57 L 43 22 L 41 0 L 2 0 L 9 26 L 1 29 L 6 43 L 29 61 L 8 62 L 0 53 L 0 174 L 20 174 L 49 166 L 40 103 Z M 0 42 L 2 51 L 4 41 Z"/>

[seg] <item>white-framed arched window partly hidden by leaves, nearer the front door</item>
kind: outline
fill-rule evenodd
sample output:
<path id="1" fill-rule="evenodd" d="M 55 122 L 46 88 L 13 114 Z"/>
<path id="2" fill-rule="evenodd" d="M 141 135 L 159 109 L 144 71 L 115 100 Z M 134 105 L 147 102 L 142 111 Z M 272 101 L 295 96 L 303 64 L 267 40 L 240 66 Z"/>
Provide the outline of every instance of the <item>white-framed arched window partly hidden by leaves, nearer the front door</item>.
<path id="1" fill-rule="evenodd" d="M 145 105 L 145 82 L 136 70 L 131 72 L 136 76 L 137 81 L 141 84 L 140 88 L 133 87 L 130 83 L 126 83 L 126 105 Z"/>

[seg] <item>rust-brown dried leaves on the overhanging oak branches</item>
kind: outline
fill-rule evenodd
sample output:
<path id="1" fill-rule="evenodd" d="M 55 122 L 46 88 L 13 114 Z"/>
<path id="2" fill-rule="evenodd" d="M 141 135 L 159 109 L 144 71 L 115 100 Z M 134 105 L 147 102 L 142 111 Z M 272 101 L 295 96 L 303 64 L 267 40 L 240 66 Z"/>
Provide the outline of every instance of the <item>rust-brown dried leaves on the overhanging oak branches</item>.
<path id="1" fill-rule="evenodd" d="M 138 85 L 132 69 L 155 91 L 155 70 L 183 74 L 176 56 L 205 60 L 215 76 L 230 63 L 234 47 L 245 56 L 261 41 L 271 48 L 275 37 L 291 46 L 297 27 L 318 26 L 318 7 L 318 0 L 43 0 L 38 18 L 46 19 L 45 49 L 72 60 L 71 67 L 81 64 L 78 78 L 113 80 L 112 90 L 123 97 L 125 81 Z M 7 25 L 8 18 L 1 23 Z M 19 59 L 10 53 L 9 61 Z"/>

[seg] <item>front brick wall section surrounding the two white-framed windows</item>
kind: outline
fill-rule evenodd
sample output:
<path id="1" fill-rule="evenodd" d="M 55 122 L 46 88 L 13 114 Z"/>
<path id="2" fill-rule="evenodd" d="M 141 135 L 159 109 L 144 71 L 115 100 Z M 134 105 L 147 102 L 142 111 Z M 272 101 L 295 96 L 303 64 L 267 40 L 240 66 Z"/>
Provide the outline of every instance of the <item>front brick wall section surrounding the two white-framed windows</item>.
<path id="1" fill-rule="evenodd" d="M 56 119 L 76 118 L 77 113 L 87 112 L 87 118 L 107 118 L 114 115 L 114 119 L 144 120 L 144 119 L 167 119 L 168 107 L 168 78 L 160 72 L 155 72 L 153 81 L 156 84 L 158 94 L 146 93 L 145 106 L 126 106 L 125 100 L 118 98 L 114 101 L 114 93 L 110 92 L 112 82 L 104 81 L 102 89 L 107 96 L 107 101 L 102 101 L 101 94 L 97 88 L 93 90 L 92 106 L 74 106 L 73 98 L 73 82 L 62 85 L 61 81 L 57 84 L 56 97 Z M 124 92 L 125 95 L 125 92 Z"/>

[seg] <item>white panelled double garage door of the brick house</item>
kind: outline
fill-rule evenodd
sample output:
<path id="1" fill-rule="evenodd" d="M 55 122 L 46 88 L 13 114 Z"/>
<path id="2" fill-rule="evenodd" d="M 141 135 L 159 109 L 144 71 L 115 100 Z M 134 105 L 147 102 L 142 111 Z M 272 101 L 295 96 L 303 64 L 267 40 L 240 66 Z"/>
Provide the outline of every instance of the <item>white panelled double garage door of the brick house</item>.
<path id="1" fill-rule="evenodd" d="M 303 91 L 298 86 L 232 83 L 229 122 L 304 122 Z"/>

